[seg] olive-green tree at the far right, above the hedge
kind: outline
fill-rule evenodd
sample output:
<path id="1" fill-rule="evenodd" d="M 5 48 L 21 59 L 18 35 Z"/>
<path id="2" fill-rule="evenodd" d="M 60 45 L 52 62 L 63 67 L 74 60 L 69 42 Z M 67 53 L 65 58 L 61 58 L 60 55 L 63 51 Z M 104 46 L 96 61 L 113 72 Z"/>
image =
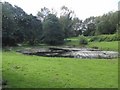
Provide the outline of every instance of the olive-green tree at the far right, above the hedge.
<path id="1" fill-rule="evenodd" d="M 118 12 L 109 12 L 96 18 L 96 34 L 114 34 L 117 31 Z"/>

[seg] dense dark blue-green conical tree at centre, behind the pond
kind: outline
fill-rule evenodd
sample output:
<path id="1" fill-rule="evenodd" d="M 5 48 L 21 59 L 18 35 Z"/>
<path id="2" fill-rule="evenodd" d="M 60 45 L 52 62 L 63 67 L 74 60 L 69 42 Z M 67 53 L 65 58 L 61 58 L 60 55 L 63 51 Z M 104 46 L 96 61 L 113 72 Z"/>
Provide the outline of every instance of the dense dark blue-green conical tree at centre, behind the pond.
<path id="1" fill-rule="evenodd" d="M 60 45 L 64 42 L 64 34 L 59 19 L 54 14 L 49 14 L 43 23 L 44 42 L 49 45 Z"/>

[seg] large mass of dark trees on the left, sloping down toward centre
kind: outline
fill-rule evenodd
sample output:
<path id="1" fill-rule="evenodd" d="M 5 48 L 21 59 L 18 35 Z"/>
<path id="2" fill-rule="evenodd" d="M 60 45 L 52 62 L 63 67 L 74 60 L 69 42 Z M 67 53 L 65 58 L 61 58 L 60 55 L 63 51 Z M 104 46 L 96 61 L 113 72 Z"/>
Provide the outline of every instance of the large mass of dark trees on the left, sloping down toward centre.
<path id="1" fill-rule="evenodd" d="M 12 46 L 28 42 L 33 45 L 40 40 L 41 21 L 33 15 L 27 15 L 20 7 L 8 2 L 2 3 L 2 45 Z"/>

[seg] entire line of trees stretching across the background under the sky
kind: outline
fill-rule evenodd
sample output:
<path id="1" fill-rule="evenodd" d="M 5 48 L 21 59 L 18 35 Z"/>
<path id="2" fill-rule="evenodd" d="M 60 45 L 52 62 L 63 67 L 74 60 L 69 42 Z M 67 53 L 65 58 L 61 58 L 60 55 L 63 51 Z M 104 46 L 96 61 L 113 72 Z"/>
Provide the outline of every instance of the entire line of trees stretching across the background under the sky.
<path id="1" fill-rule="evenodd" d="M 59 45 L 64 39 L 78 35 L 94 36 L 117 32 L 118 12 L 89 17 L 84 21 L 75 16 L 73 10 L 61 7 L 60 17 L 53 9 L 44 7 L 37 16 L 28 15 L 22 8 L 2 3 L 3 46 L 27 43 Z"/>

